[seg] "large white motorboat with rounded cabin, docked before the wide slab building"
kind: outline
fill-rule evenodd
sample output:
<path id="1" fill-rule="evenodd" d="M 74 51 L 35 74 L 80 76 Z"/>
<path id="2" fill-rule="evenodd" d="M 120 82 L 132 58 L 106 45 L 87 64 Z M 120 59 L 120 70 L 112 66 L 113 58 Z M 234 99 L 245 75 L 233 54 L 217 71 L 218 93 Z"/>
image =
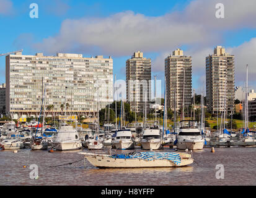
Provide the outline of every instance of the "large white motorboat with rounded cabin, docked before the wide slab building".
<path id="1" fill-rule="evenodd" d="M 82 148 L 79 134 L 73 126 L 61 126 L 52 145 L 56 150 L 78 150 Z"/>

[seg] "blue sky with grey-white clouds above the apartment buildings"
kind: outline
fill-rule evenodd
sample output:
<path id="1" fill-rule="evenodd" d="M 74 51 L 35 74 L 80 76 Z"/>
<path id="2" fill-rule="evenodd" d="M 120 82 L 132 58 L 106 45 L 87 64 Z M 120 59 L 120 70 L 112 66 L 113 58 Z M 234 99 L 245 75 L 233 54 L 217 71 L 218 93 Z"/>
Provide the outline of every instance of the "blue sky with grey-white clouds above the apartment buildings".
<path id="1" fill-rule="evenodd" d="M 31 18 L 30 4 L 38 5 Z M 224 6 L 224 17 L 216 17 Z M 255 0 L 0 0 L 0 54 L 79 53 L 113 58 L 113 73 L 125 80 L 125 61 L 135 51 L 152 59 L 152 79 L 162 80 L 164 59 L 177 48 L 192 56 L 192 88 L 205 92 L 205 58 L 216 46 L 235 56 L 235 85 L 256 87 Z M 0 56 L 0 83 L 5 57 Z"/>

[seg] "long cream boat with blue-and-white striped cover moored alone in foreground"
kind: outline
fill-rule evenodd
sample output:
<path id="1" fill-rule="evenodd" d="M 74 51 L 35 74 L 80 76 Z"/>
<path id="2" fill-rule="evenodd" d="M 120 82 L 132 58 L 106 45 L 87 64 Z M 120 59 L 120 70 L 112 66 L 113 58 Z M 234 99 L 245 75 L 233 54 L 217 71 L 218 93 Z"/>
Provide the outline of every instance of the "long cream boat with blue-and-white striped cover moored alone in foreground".
<path id="1" fill-rule="evenodd" d="M 190 153 L 133 152 L 121 155 L 81 152 L 97 168 L 162 168 L 187 166 L 193 163 Z"/>

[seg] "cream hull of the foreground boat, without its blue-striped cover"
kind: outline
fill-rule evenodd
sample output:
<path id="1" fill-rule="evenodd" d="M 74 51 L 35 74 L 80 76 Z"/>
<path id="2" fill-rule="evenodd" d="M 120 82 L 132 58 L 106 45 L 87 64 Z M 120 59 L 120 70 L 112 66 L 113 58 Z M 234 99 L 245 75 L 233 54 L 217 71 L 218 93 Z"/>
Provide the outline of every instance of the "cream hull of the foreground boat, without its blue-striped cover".
<path id="1" fill-rule="evenodd" d="M 85 158 L 97 168 L 163 168 L 187 166 L 193 163 L 192 158 L 182 158 L 179 165 L 170 160 L 119 159 L 103 156 L 86 156 Z"/>

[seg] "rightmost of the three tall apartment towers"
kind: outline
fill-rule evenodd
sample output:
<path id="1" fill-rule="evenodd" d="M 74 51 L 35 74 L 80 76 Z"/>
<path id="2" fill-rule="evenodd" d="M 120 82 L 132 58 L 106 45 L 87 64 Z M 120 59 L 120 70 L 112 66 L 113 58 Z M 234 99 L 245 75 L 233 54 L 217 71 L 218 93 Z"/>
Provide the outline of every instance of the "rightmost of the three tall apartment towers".
<path id="1" fill-rule="evenodd" d="M 217 46 L 214 54 L 206 57 L 206 98 L 211 113 L 234 112 L 234 55 Z M 226 103 L 225 103 L 226 101 Z"/>

